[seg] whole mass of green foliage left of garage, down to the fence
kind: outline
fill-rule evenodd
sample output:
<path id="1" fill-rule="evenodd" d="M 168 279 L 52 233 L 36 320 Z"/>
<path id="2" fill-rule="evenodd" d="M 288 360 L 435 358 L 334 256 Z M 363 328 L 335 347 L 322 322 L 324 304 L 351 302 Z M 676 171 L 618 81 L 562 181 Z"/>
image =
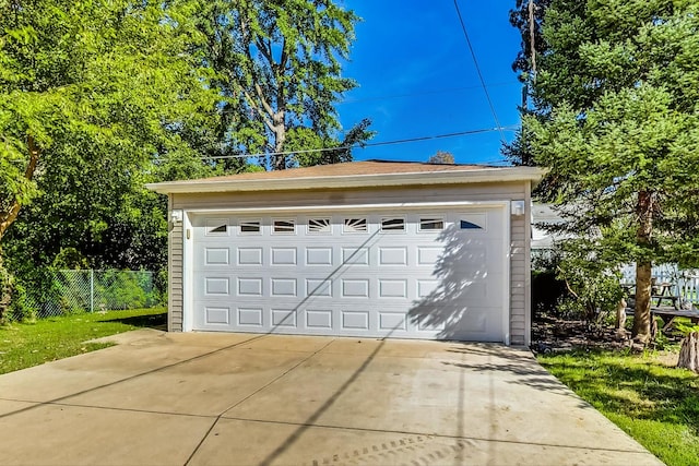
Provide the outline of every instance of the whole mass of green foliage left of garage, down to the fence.
<path id="1" fill-rule="evenodd" d="M 215 101 L 191 53 L 202 39 L 194 7 L 2 7 L 0 242 L 27 292 L 51 264 L 164 266 L 166 205 L 143 183 L 211 172 L 175 131 L 206 124 Z"/>

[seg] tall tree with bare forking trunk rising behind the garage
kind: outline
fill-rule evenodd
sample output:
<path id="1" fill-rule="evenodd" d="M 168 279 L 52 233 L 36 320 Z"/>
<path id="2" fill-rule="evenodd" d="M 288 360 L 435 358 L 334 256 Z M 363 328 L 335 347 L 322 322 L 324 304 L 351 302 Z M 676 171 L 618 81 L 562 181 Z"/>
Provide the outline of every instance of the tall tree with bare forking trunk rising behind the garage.
<path id="1" fill-rule="evenodd" d="M 363 120 L 341 139 L 334 108 L 356 86 L 342 76 L 341 60 L 358 20 L 331 0 L 202 4 L 204 62 L 221 98 L 215 130 L 198 133 L 208 152 L 229 165 L 237 155 L 261 154 L 272 169 L 351 159 L 352 146 L 372 136 Z"/>

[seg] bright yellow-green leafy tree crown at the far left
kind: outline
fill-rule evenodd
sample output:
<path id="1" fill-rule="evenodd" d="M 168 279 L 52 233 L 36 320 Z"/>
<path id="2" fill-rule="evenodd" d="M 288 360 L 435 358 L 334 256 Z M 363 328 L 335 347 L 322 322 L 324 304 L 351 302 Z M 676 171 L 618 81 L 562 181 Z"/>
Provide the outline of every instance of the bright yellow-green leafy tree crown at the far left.
<path id="1" fill-rule="evenodd" d="M 102 234 L 102 218 L 133 191 L 133 175 L 185 151 L 171 129 L 211 100 L 182 52 L 197 38 L 185 2 L 0 5 L 1 267 L 5 235 L 32 201 L 55 206 L 37 212 L 51 215 L 45 224 L 54 231 Z"/>

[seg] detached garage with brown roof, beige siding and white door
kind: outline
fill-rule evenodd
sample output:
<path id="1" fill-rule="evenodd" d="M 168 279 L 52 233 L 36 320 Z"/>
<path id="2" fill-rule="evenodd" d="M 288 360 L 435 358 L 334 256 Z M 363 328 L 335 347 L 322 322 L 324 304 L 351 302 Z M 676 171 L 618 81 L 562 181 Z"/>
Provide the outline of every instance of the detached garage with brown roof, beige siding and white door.
<path id="1" fill-rule="evenodd" d="M 538 176 L 371 160 L 151 184 L 168 326 L 525 343 Z"/>

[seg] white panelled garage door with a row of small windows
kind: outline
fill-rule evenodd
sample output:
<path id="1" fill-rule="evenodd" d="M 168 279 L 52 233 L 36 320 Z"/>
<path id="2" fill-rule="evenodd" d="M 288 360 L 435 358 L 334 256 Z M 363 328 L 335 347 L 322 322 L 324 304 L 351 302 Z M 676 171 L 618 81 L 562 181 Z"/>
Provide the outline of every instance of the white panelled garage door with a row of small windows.
<path id="1" fill-rule="evenodd" d="M 193 330 L 506 338 L 503 208 L 190 218 Z"/>

